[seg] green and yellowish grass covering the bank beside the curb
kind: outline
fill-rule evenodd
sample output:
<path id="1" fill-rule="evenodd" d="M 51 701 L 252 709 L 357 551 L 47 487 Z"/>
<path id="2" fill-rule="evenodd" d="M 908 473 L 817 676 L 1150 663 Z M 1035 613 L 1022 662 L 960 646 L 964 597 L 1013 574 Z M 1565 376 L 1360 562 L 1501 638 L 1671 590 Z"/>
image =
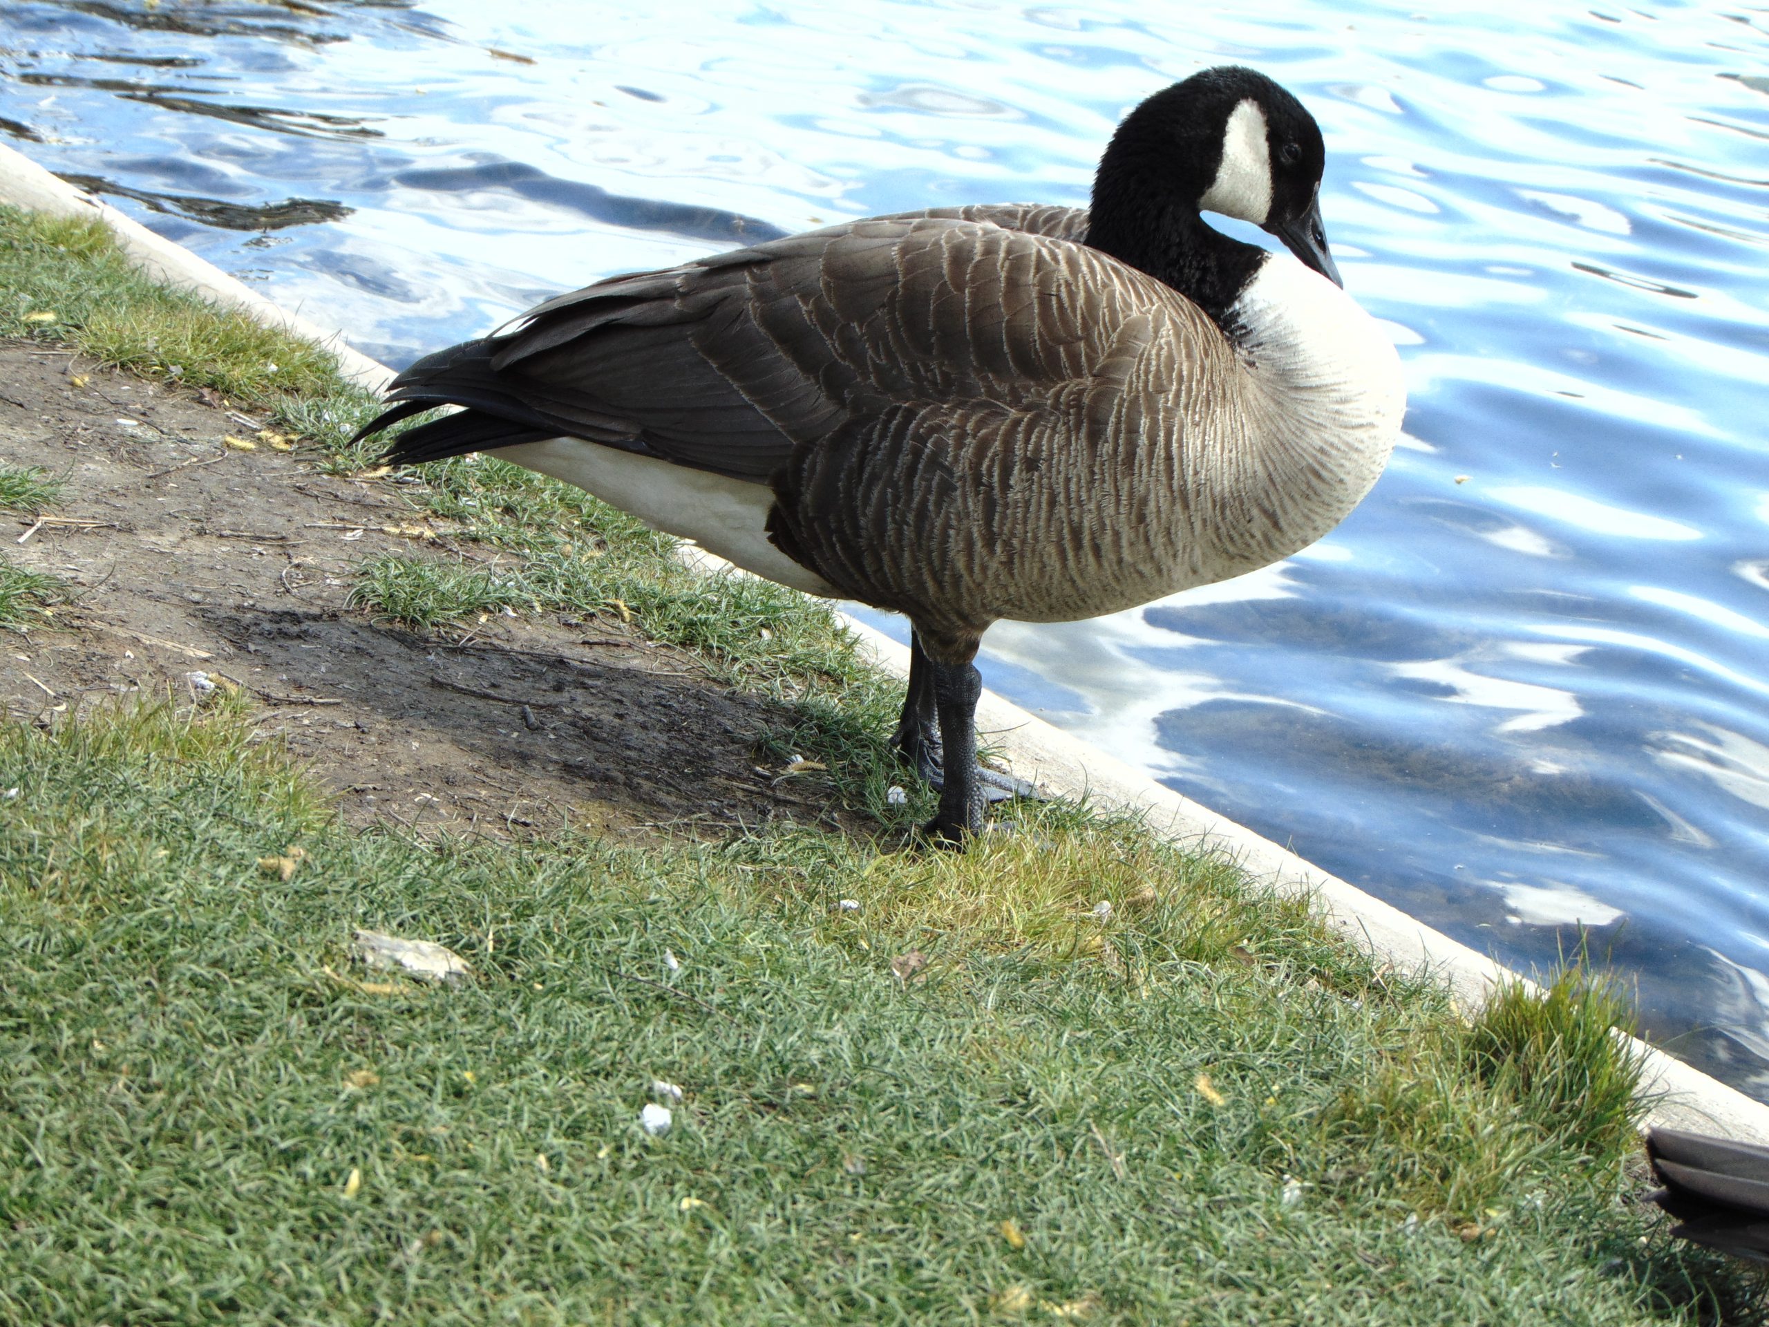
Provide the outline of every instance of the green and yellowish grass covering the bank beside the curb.
<path id="1" fill-rule="evenodd" d="M 348 444 L 373 403 L 322 356 L 154 288 L 90 226 L 0 211 L 0 334 L 373 462 Z M 423 474 L 387 492 L 486 561 L 370 559 L 364 610 L 619 616 L 787 701 L 773 741 L 856 803 L 915 812 L 884 807 L 897 685 L 823 605 L 692 573 L 495 460 Z M 1760 1313 L 1638 1201 L 1638 1067 L 1599 978 L 1468 1019 L 1081 807 L 962 856 L 791 826 L 419 842 L 343 828 L 237 697 L 0 725 L 0 1322 Z M 288 879 L 260 865 L 292 846 Z M 359 925 L 476 977 L 366 973 Z M 653 1079 L 685 1092 L 663 1138 L 637 1124 Z"/>

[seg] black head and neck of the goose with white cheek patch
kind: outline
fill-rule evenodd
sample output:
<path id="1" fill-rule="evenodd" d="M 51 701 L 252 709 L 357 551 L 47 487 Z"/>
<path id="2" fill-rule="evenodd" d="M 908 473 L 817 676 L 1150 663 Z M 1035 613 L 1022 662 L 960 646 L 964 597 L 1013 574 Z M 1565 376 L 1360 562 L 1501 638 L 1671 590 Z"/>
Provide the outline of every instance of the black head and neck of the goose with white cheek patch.
<path id="1" fill-rule="evenodd" d="M 1265 260 L 1199 218 L 1251 221 L 1341 285 L 1320 214 L 1327 150 L 1300 101 L 1222 65 L 1132 110 L 1093 179 L 1088 244 L 1175 287 L 1217 322 Z"/>

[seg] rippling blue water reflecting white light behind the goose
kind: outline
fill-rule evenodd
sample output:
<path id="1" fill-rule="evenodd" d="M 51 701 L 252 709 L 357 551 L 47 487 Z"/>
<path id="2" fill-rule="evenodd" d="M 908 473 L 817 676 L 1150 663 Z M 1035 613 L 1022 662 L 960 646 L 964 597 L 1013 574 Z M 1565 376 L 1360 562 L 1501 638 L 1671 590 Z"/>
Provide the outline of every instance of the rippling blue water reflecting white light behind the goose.
<path id="1" fill-rule="evenodd" d="M 1316 548 L 998 626 L 989 681 L 1507 963 L 1583 924 L 1769 1101 L 1769 7 L 1146 12 L 25 0 L 0 131 L 402 364 L 745 239 L 1081 203 L 1127 106 L 1263 67 L 1408 441 Z"/>

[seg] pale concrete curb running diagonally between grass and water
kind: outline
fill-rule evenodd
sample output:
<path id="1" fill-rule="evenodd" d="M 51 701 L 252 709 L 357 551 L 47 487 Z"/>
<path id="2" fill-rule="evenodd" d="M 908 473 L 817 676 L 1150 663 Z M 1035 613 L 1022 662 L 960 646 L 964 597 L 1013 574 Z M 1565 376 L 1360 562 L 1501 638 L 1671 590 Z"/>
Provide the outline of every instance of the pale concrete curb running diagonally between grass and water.
<path id="1" fill-rule="evenodd" d="M 189 249 L 156 235 L 4 145 L 0 145 L 0 203 L 57 216 L 96 216 L 117 234 L 124 251 L 149 274 L 218 304 L 237 308 L 258 322 L 320 341 L 338 356 L 345 375 L 363 387 L 379 389 L 393 377 L 393 370 L 345 345 L 340 333 L 327 333 L 278 308 Z M 704 552 L 697 552 L 695 561 L 708 570 L 727 566 Z M 849 619 L 847 625 L 881 667 L 907 676 L 907 648 L 856 619 Z M 1329 876 L 1295 853 L 1180 796 L 1143 771 L 1088 747 L 992 692 L 984 692 L 976 718 L 987 741 L 1007 752 L 1022 779 L 1031 779 L 1060 796 L 1086 796 L 1104 807 L 1134 810 L 1152 830 L 1175 842 L 1233 858 L 1254 881 L 1272 892 L 1313 895 L 1321 917 L 1336 932 L 1399 970 L 1429 970 L 1447 982 L 1467 1007 L 1481 1005 L 1497 980 L 1512 975 L 1493 959 L 1415 922 L 1337 876 Z M 1656 1097 L 1649 1124 L 1769 1145 L 1769 1106 L 1645 1042 L 1629 1040 L 1645 1067 L 1643 1090 Z"/>

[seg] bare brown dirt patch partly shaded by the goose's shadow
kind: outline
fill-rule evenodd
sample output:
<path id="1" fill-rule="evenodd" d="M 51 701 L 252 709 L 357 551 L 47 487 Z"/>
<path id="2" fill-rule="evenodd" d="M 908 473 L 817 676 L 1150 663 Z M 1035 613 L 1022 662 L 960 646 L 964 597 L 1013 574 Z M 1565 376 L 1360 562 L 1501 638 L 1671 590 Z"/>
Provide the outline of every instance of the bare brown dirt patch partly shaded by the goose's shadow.
<path id="1" fill-rule="evenodd" d="M 85 386 L 74 382 L 85 379 Z M 0 630 L 0 704 L 55 722 L 106 697 L 246 688 L 260 727 L 354 823 L 488 833 L 759 825 L 835 812 L 759 770 L 789 717 L 607 617 L 494 617 L 414 635 L 350 609 L 350 568 L 419 545 L 393 478 L 317 474 L 189 393 L 0 343 L 0 460 L 67 478 L 51 520 L 0 517 L 16 563 L 78 600 Z M 432 556 L 451 556 L 425 543 Z M 486 561 L 483 550 L 474 552 Z M 202 681 L 195 681 L 202 688 Z"/>

